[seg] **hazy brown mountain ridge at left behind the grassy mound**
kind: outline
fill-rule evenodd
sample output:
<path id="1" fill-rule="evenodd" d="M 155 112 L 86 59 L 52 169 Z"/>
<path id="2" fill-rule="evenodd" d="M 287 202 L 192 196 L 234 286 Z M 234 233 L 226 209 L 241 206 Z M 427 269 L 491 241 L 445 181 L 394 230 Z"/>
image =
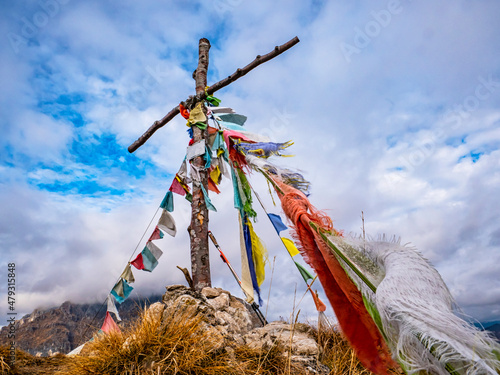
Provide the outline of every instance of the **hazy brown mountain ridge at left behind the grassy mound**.
<path id="1" fill-rule="evenodd" d="M 161 299 L 161 295 L 147 299 L 129 298 L 117 305 L 118 312 L 126 323 L 136 318 L 144 306 Z M 101 303 L 74 304 L 67 301 L 59 307 L 36 309 L 16 321 L 16 347 L 39 356 L 69 353 L 101 328 L 105 315 L 106 305 Z M 0 331 L 1 346 L 10 346 L 8 330 L 9 327 L 5 326 Z"/>

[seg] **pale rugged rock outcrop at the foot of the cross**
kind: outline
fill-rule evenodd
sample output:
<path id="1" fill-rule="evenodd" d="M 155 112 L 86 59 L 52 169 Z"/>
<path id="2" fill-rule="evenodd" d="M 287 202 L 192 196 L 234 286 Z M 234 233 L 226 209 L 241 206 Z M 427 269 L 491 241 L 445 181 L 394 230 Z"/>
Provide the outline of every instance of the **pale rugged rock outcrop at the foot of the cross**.
<path id="1" fill-rule="evenodd" d="M 300 373 L 330 373 L 318 361 L 319 347 L 309 326 L 285 322 L 263 326 L 248 303 L 220 288 L 196 292 L 183 285 L 168 286 L 162 303 L 151 305 L 146 313 L 165 321 L 175 315 L 202 317 L 211 337 L 228 351 L 241 345 L 265 351 L 278 344 L 284 349 L 283 355 L 301 369 Z"/>

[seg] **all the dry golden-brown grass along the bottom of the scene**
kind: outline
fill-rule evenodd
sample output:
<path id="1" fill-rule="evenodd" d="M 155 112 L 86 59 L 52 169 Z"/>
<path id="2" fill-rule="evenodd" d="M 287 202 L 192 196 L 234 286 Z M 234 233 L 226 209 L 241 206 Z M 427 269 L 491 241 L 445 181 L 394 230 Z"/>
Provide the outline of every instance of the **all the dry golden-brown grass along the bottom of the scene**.
<path id="1" fill-rule="evenodd" d="M 200 318 L 171 316 L 163 323 L 144 313 L 122 333 L 101 335 L 75 357 L 34 357 L 19 352 L 14 369 L 2 374 L 100 374 L 100 375 L 293 375 L 300 369 L 290 361 L 287 345 L 279 342 L 262 350 L 223 342 L 217 331 Z M 323 321 L 324 323 L 324 321 Z M 321 347 L 319 361 L 332 375 L 369 375 L 338 329 L 322 324 L 320 330 L 298 323 L 297 331 L 316 335 Z M 0 365 L 8 349 L 0 351 Z M 394 373 L 399 374 L 399 373 Z"/>

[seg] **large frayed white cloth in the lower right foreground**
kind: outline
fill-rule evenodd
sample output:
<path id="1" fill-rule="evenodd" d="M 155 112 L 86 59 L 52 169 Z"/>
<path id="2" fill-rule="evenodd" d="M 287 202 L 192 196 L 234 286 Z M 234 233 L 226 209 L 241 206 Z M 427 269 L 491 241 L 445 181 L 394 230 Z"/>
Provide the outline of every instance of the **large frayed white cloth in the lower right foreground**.
<path id="1" fill-rule="evenodd" d="M 479 375 L 500 370 L 500 345 L 454 314 L 455 302 L 444 281 L 417 250 L 385 237 L 323 236 L 332 252 L 341 255 L 407 372 Z"/>

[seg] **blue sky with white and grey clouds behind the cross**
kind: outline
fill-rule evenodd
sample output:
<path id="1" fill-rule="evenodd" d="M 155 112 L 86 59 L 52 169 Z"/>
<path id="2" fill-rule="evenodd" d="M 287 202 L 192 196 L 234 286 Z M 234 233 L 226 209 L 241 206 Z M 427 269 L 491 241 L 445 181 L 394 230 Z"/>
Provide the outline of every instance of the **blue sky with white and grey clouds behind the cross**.
<path id="1" fill-rule="evenodd" d="M 2 1 L 0 251 L 16 264 L 16 311 L 102 302 L 184 158 L 185 120 L 127 147 L 194 92 L 294 36 L 301 42 L 219 91 L 246 126 L 293 140 L 311 201 L 338 229 L 396 235 L 439 270 L 466 314 L 500 319 L 500 3 L 413 1 Z M 273 207 L 260 176 L 251 183 Z M 210 228 L 239 270 L 232 187 Z M 269 250 L 269 319 L 314 319 L 310 296 L 256 205 Z M 134 294 L 185 283 L 189 205 Z M 215 286 L 241 292 L 211 248 Z M 274 266 L 273 266 L 274 265 Z M 0 284 L 6 292 L 6 278 Z M 326 302 L 326 298 L 323 298 Z M 294 310 L 295 306 L 295 310 Z M 0 312 L 6 315 L 6 301 Z M 331 314 L 331 309 L 329 309 Z M 5 324 L 2 322 L 1 324 Z"/>

